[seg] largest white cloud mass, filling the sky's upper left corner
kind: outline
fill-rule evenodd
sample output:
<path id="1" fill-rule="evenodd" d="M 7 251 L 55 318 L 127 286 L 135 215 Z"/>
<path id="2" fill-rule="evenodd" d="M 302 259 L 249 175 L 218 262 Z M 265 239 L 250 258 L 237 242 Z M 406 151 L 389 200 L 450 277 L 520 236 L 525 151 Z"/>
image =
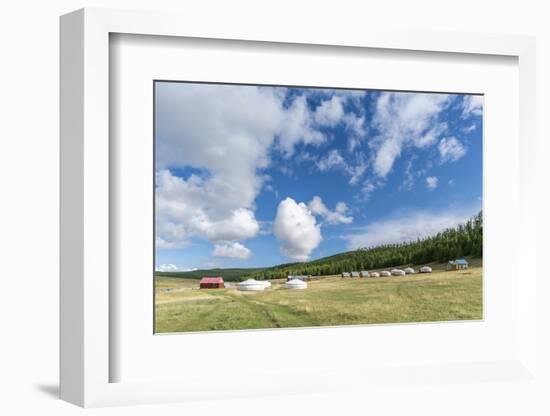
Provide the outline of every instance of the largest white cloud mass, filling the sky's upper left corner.
<path id="1" fill-rule="evenodd" d="M 182 247 L 250 238 L 268 149 L 286 112 L 277 89 L 157 84 L 156 241 Z M 235 163 L 238 160 L 239 163 Z M 192 167 L 187 179 L 168 167 Z"/>

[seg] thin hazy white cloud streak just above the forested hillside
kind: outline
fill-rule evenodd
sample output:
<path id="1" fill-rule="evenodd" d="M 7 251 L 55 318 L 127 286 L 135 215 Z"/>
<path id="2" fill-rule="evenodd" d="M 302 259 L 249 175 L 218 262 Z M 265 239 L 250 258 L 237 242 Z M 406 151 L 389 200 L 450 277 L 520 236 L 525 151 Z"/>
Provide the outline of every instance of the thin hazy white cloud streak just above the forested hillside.
<path id="1" fill-rule="evenodd" d="M 429 237 L 463 224 L 479 211 L 473 209 L 442 212 L 413 212 L 373 222 L 346 237 L 349 249 L 396 244 Z"/>

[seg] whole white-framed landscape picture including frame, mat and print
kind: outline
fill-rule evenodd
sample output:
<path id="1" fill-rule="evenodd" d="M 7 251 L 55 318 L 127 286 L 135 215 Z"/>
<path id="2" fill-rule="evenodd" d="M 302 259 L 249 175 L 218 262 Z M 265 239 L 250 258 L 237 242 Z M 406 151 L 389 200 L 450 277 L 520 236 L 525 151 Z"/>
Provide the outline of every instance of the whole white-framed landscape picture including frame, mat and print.
<path id="1" fill-rule="evenodd" d="M 532 379 L 534 40 L 244 29 L 61 18 L 62 398 Z"/>

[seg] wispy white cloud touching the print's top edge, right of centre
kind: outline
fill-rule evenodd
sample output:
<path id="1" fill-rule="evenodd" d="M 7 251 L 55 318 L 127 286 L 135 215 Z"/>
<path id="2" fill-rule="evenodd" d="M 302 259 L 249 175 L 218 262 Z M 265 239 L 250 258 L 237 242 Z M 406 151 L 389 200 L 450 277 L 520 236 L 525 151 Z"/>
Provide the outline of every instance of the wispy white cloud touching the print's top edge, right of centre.
<path id="1" fill-rule="evenodd" d="M 373 124 L 380 136 L 371 144 L 376 155 L 374 172 L 385 177 L 403 147 L 435 144 L 447 129 L 439 114 L 452 96 L 428 93 L 381 93 L 376 102 Z"/>

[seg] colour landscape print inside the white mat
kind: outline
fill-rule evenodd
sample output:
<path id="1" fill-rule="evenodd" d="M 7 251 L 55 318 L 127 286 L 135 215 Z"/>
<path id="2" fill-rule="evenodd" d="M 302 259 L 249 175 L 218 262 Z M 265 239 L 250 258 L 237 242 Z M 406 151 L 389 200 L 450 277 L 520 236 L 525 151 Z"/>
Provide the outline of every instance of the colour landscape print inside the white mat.
<path id="1" fill-rule="evenodd" d="M 482 95 L 154 96 L 155 332 L 483 318 Z"/>

